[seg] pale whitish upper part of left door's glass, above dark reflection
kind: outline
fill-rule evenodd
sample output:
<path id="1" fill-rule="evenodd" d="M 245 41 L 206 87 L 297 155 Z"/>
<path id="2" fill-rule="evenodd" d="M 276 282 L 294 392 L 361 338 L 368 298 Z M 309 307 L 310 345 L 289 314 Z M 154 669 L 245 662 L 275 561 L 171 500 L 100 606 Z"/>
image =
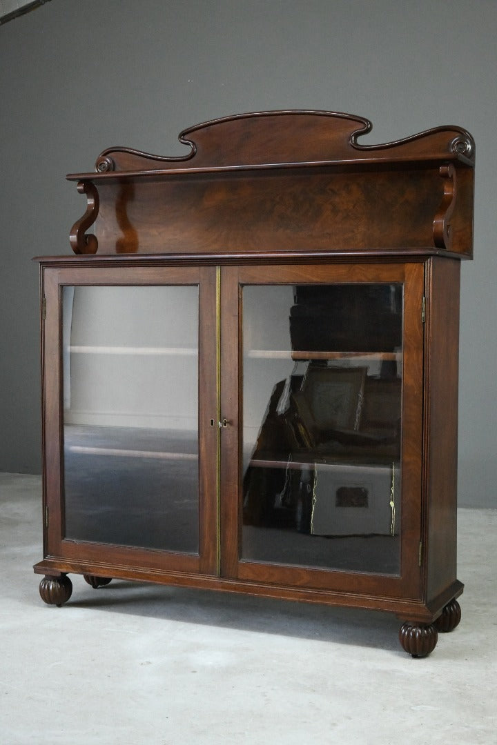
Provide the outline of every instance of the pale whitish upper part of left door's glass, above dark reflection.
<path id="1" fill-rule="evenodd" d="M 63 313 L 66 424 L 197 430 L 197 287 L 66 287 Z"/>

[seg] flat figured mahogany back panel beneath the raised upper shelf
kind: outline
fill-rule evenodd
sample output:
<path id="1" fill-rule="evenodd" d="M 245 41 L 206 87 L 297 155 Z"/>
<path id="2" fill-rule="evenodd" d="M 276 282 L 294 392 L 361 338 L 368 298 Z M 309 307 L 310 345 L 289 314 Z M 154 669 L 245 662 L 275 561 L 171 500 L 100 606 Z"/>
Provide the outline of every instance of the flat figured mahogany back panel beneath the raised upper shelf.
<path id="1" fill-rule="evenodd" d="M 434 248 L 443 202 L 438 168 L 106 183 L 96 235 L 106 254 Z M 453 222 L 451 235 L 453 251 L 469 250 L 460 224 Z"/>

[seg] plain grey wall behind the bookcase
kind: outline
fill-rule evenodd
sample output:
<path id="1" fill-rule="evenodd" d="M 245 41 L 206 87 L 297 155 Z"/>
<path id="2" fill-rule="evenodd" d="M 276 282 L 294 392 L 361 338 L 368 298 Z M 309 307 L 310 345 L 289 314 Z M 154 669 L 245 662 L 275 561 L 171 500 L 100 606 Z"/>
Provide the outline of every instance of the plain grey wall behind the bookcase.
<path id="1" fill-rule="evenodd" d="M 68 171 L 110 145 L 182 153 L 184 127 L 309 108 L 368 142 L 459 124 L 477 143 L 463 264 L 460 504 L 496 506 L 495 0 L 51 0 L 0 27 L 0 470 L 39 472 L 37 254 L 68 253 Z"/>

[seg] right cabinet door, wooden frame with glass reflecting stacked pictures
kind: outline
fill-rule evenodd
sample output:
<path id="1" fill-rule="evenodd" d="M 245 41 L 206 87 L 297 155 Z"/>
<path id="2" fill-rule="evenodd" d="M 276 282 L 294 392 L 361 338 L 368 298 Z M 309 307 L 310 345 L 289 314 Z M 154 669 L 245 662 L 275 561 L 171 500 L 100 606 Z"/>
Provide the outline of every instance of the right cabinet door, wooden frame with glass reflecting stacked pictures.
<path id="1" fill-rule="evenodd" d="M 418 597 L 422 264 L 222 277 L 222 573 Z"/>

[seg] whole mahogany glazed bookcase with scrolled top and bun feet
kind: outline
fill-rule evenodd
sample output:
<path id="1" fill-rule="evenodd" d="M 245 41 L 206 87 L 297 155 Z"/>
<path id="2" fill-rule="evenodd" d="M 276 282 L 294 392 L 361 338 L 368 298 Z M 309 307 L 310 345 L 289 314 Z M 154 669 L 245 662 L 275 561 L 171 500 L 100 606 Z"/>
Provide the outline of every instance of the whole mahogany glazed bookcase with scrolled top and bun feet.
<path id="1" fill-rule="evenodd" d="M 475 145 L 259 112 L 70 174 L 38 259 L 43 574 L 379 609 L 425 656 L 460 621 L 460 260 Z M 92 232 L 93 231 L 93 232 Z"/>

